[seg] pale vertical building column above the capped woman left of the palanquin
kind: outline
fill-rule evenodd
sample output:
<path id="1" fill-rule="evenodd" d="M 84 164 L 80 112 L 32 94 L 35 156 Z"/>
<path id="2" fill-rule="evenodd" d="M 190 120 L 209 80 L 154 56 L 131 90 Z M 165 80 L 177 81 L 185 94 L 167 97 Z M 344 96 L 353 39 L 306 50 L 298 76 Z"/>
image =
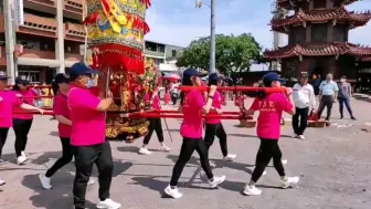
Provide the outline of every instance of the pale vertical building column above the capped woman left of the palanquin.
<path id="1" fill-rule="evenodd" d="M 65 73 L 64 65 L 64 24 L 63 24 L 63 1 L 56 2 L 56 22 L 57 35 L 55 41 L 55 60 L 60 61 L 60 66 L 56 67 L 56 73 Z"/>

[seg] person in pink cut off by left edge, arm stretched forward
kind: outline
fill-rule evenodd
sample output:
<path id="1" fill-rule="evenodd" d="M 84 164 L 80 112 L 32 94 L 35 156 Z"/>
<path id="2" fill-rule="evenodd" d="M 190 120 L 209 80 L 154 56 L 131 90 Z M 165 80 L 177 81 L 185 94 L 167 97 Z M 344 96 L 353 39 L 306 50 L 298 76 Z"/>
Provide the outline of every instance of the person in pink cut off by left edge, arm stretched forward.
<path id="1" fill-rule="evenodd" d="M 13 126 L 13 108 L 21 107 L 22 109 L 39 111 L 41 114 L 43 113 L 43 109 L 23 103 L 20 100 L 20 95 L 13 91 L 7 91 L 7 83 L 8 76 L 0 74 L 0 165 L 6 164 L 6 161 L 1 159 L 1 153 L 2 147 L 7 142 L 9 128 Z M 0 179 L 0 185 L 3 184 L 4 181 Z"/>

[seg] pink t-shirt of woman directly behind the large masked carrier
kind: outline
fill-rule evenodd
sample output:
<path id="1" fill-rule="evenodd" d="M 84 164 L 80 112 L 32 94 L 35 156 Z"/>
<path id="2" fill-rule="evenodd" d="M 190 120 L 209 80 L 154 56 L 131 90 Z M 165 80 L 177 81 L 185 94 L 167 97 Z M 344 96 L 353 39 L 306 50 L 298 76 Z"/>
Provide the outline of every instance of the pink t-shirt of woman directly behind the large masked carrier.
<path id="1" fill-rule="evenodd" d="M 53 100 L 53 112 L 54 115 L 62 115 L 67 119 L 71 119 L 70 108 L 67 104 L 67 96 L 57 93 Z M 59 123 L 60 137 L 70 138 L 71 137 L 71 126 L 66 124 Z"/>

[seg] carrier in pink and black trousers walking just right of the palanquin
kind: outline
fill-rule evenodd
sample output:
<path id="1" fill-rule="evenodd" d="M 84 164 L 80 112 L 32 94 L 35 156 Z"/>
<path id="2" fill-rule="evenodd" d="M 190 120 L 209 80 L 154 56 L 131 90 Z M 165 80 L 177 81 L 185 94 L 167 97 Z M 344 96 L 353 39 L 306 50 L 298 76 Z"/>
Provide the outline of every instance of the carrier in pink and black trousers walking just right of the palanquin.
<path id="1" fill-rule="evenodd" d="M 145 101 L 151 106 L 151 108 L 157 109 L 157 111 L 161 109 L 160 96 L 158 95 L 158 90 L 155 90 L 153 92 L 148 92 L 145 96 Z M 147 146 L 153 134 L 153 130 L 156 132 L 157 138 L 161 144 L 160 150 L 163 150 L 163 151 L 170 150 L 170 148 L 167 147 L 163 143 L 163 130 L 162 130 L 161 118 L 149 118 L 148 134 L 145 136 L 142 147 L 139 149 L 140 154 L 142 155 L 151 154 L 151 151 L 148 150 Z"/>

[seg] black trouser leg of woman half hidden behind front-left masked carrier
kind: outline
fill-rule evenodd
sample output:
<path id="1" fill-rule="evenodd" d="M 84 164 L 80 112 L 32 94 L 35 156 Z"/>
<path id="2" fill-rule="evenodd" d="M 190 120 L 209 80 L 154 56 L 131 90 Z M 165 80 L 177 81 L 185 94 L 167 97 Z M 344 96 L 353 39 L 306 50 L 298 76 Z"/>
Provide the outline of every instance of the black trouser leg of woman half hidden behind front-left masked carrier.
<path id="1" fill-rule="evenodd" d="M 73 153 L 70 145 L 70 138 L 61 137 L 62 144 L 62 157 L 55 161 L 55 164 L 47 169 L 45 176 L 52 177 L 59 169 L 72 161 Z"/>

